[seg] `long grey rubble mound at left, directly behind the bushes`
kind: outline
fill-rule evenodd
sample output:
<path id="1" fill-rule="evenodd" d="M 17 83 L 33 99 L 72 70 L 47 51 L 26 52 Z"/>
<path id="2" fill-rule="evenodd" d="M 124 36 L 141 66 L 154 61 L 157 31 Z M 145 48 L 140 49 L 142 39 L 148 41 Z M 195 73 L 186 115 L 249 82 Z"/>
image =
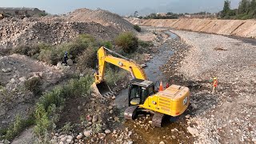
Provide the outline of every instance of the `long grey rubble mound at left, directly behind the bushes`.
<path id="1" fill-rule="evenodd" d="M 78 34 L 91 34 L 94 38 L 110 40 L 118 31 L 96 22 L 36 21 L 9 19 L 0 21 L 0 49 L 35 42 L 59 44 L 68 42 Z"/>

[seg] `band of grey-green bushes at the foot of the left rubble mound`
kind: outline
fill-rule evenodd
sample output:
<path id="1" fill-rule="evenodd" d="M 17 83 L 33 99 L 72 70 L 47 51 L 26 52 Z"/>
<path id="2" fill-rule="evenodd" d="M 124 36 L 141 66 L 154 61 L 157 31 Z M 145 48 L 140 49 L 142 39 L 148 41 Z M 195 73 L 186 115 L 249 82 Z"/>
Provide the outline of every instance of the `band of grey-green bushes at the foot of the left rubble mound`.
<path id="1" fill-rule="evenodd" d="M 50 46 L 45 43 L 32 46 L 18 46 L 12 50 L 12 53 L 24 54 L 48 64 L 57 65 L 58 62 L 62 61 L 65 52 L 68 53 L 69 58 L 75 59 L 88 47 L 95 47 L 97 44 L 95 38 L 89 34 L 81 34 L 74 38 L 72 42 L 62 43 L 59 46 Z M 106 44 L 110 46 L 110 43 Z"/>

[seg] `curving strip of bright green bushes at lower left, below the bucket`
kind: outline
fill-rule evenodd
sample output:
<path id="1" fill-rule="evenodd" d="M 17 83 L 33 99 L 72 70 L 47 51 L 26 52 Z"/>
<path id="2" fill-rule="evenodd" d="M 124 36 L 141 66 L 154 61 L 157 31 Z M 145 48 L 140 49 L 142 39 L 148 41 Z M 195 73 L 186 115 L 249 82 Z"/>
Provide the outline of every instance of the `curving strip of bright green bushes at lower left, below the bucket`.
<path id="1" fill-rule="evenodd" d="M 46 143 L 49 140 L 49 131 L 54 130 L 55 123 L 58 122 L 59 114 L 65 104 L 65 98 L 75 98 L 89 94 L 92 82 L 93 78 L 86 75 L 80 79 L 70 80 L 65 86 L 56 87 L 54 90 L 43 94 L 42 98 L 39 98 L 34 113 L 36 123 L 34 133 L 40 140 Z"/>

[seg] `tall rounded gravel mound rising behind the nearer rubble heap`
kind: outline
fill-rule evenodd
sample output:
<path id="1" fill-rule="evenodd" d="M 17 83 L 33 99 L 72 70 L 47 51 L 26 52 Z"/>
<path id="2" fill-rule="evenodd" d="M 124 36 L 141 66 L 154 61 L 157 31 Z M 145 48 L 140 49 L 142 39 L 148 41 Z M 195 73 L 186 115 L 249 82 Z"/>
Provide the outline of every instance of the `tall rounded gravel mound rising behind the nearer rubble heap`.
<path id="1" fill-rule="evenodd" d="M 89 10 L 78 9 L 74 10 L 69 15 L 71 21 L 75 22 L 97 22 L 102 26 L 113 26 L 118 31 L 133 31 L 133 25 L 120 17 L 118 14 L 110 13 L 107 10 Z"/>

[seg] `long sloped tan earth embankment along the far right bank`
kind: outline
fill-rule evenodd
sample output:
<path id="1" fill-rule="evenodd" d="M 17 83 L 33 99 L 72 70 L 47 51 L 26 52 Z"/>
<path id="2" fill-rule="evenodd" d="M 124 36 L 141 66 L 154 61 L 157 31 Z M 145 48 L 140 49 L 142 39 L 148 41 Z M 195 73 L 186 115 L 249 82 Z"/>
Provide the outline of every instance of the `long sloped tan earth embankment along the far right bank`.
<path id="1" fill-rule="evenodd" d="M 177 30 L 191 30 L 210 34 L 234 35 L 256 38 L 254 20 L 210 20 L 210 19 L 130 19 L 142 26 L 170 27 Z"/>

